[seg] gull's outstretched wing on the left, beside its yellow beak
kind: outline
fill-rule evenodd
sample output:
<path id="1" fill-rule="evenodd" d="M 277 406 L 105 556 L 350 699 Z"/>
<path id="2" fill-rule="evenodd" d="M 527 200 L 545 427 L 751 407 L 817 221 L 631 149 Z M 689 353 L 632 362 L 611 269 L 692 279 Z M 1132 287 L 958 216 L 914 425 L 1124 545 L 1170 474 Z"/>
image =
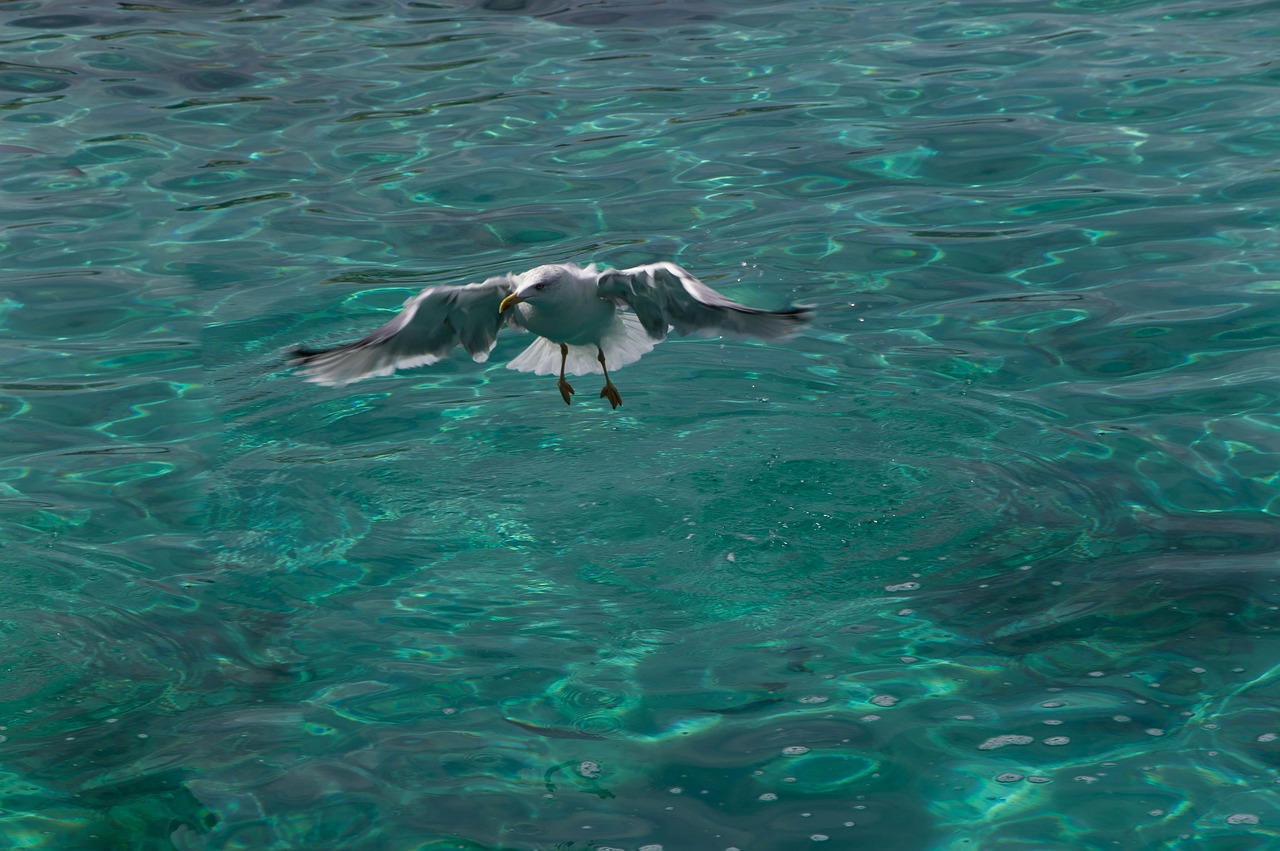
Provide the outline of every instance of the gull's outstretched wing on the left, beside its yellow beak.
<path id="1" fill-rule="evenodd" d="M 332 386 L 435 363 L 460 344 L 484 362 L 507 321 L 498 306 L 516 283 L 515 275 L 499 275 L 479 284 L 429 287 L 369 337 L 338 348 L 294 349 L 289 363 L 301 366 L 307 381 Z"/>

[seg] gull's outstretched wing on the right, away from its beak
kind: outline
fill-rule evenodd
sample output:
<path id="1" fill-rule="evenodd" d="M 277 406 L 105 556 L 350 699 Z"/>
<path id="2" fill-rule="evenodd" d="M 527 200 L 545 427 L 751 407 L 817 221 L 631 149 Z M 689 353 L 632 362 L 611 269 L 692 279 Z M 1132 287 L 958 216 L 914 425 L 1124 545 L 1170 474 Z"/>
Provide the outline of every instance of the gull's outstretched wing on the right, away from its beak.
<path id="1" fill-rule="evenodd" d="M 678 334 L 777 340 L 813 319 L 809 307 L 759 310 L 739 305 L 671 262 L 605 270 L 598 292 L 602 298 L 625 302 L 654 339 L 673 328 Z"/>

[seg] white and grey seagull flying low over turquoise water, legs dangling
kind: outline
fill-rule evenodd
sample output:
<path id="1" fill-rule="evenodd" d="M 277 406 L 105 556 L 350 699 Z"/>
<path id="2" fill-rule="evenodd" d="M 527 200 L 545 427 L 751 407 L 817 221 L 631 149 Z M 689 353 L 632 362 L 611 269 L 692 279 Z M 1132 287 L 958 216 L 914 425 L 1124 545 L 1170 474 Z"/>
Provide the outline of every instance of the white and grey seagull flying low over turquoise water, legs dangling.
<path id="1" fill-rule="evenodd" d="M 603 372 L 600 398 L 617 408 L 622 395 L 609 367 L 639 361 L 668 331 L 780 340 L 812 317 L 804 306 L 768 311 L 739 305 L 672 262 L 603 270 L 552 264 L 477 284 L 428 287 L 369 337 L 337 348 L 294 349 L 289 363 L 302 367 L 307 381 L 326 386 L 435 363 L 454 346 L 484 363 L 506 324 L 538 337 L 507 369 L 553 375 L 559 356 L 557 386 L 566 404 L 573 395 L 566 372 Z"/>

